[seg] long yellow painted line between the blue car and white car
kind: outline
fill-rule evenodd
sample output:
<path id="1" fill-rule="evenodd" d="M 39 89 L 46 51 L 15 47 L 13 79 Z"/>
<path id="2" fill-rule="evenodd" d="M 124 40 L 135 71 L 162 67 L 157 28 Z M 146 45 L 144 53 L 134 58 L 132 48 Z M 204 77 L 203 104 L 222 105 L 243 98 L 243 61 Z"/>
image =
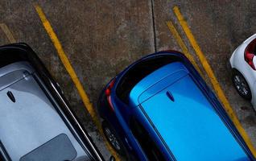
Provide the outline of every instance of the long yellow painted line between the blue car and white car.
<path id="1" fill-rule="evenodd" d="M 192 35 L 192 31 L 188 27 L 188 23 L 185 21 L 184 16 L 180 13 L 180 9 L 177 6 L 173 7 L 173 11 L 179 20 L 180 26 L 183 28 L 185 34 L 188 37 L 189 42 L 191 43 L 192 47 L 194 48 L 196 55 L 198 56 L 200 63 L 203 65 L 205 72 L 210 78 L 211 83 L 213 84 L 213 89 L 215 89 L 217 96 L 221 100 L 222 104 L 225 107 L 226 112 L 229 114 L 229 117 L 232 119 L 235 126 L 237 126 L 237 130 L 242 135 L 242 138 L 244 138 L 247 146 L 250 148 L 250 151 L 253 153 L 254 157 L 256 157 L 256 151 L 255 148 L 250 141 L 249 136 L 246 134 L 246 130 L 243 129 L 241 123 L 239 122 L 236 114 L 234 114 L 233 109 L 231 108 L 231 105 L 229 104 L 228 99 L 225 97 L 225 93 L 221 89 L 221 86 L 219 85 L 219 82 L 217 81 L 216 76 L 213 73 L 213 69 L 209 65 L 208 61 L 206 60 L 206 57 L 204 56 L 204 53 L 201 51 L 198 43 L 196 42 L 196 39 L 194 35 Z"/>

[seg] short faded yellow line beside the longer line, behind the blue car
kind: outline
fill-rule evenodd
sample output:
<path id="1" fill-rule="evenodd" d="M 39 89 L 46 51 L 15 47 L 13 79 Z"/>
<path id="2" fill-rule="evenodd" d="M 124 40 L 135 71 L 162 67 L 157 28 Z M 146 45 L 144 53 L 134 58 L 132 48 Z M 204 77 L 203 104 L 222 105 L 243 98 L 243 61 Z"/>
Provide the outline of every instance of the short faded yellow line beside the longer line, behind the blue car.
<path id="1" fill-rule="evenodd" d="M 200 73 L 201 76 L 204 77 L 203 72 L 200 70 L 199 66 L 196 64 L 196 60 L 194 57 L 188 52 L 188 47 L 186 47 L 184 41 L 181 39 L 179 32 L 175 29 L 173 23 L 171 21 L 167 21 L 167 27 L 171 31 L 171 34 L 175 37 L 177 43 L 179 43 L 181 50 L 184 55 L 192 62 L 196 70 Z"/>

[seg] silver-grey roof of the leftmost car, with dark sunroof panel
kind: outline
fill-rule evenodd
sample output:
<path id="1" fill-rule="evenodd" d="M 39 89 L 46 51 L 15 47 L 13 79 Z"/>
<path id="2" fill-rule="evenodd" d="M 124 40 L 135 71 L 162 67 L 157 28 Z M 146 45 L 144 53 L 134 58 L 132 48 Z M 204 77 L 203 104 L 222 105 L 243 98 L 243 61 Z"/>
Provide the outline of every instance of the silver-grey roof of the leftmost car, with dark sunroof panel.
<path id="1" fill-rule="evenodd" d="M 27 62 L 0 68 L 0 140 L 10 159 L 27 160 L 36 155 L 43 159 L 47 154 L 42 151 L 50 148 L 56 153 L 47 156 L 47 160 L 60 157 L 87 160 L 84 148 L 58 114 L 57 104 L 50 99 L 51 95 L 39 83 L 34 71 Z M 56 148 L 63 144 L 62 147 L 69 145 L 69 149 Z"/>

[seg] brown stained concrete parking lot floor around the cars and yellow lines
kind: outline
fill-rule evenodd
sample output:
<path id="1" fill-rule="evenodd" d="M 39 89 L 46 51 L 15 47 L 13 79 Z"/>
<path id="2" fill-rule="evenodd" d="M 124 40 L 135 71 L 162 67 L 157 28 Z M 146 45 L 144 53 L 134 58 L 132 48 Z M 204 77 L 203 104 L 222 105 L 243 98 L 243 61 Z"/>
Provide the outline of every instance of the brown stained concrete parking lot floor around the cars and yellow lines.
<path id="1" fill-rule="evenodd" d="M 105 158 L 109 152 L 89 118 L 70 76 L 44 30 L 33 4 L 43 8 L 93 106 L 102 87 L 142 56 L 167 49 L 181 51 L 166 22 L 172 20 L 189 51 L 196 57 L 172 12 L 179 6 L 242 126 L 256 146 L 256 114 L 231 83 L 229 56 L 256 31 L 253 0 L 2 0 L 0 23 L 6 23 L 18 42 L 28 43 L 63 87 L 77 116 Z M 9 43 L 0 30 L 0 45 Z M 199 61 L 196 59 L 199 64 Z"/>

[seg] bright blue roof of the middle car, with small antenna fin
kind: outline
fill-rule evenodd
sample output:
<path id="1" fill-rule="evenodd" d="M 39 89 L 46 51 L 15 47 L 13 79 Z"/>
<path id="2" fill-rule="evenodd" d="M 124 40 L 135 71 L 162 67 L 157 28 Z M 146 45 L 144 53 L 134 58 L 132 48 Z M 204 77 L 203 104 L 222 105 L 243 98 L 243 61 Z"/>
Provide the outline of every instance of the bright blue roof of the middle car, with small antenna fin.
<path id="1" fill-rule="evenodd" d="M 130 103 L 140 105 L 177 160 L 250 160 L 180 62 L 138 82 Z"/>

